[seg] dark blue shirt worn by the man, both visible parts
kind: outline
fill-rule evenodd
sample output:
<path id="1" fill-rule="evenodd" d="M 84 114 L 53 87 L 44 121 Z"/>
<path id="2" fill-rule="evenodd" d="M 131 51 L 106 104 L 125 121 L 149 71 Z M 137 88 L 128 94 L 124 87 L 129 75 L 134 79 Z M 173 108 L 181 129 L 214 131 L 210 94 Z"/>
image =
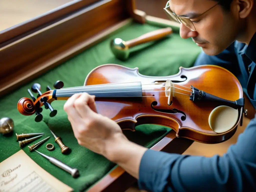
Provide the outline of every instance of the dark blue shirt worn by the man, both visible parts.
<path id="1" fill-rule="evenodd" d="M 256 33 L 248 46 L 235 41 L 217 56 L 202 52 L 195 65 L 219 65 L 230 70 L 255 109 L 255 48 Z M 138 185 L 148 192 L 256 191 L 256 118 L 223 156 L 190 156 L 148 149 L 141 159 Z"/>

